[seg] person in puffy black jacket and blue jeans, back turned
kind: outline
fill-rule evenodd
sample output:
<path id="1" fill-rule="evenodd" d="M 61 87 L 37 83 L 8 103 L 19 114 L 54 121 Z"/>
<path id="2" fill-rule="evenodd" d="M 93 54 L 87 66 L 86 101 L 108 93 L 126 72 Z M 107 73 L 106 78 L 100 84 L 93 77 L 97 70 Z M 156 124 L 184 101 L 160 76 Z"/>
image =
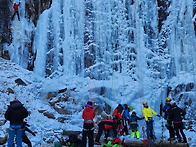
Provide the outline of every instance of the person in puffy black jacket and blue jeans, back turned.
<path id="1" fill-rule="evenodd" d="M 13 147 L 14 137 L 16 135 L 17 147 L 22 147 L 22 124 L 23 119 L 28 116 L 27 109 L 21 104 L 18 99 L 10 102 L 5 118 L 10 121 L 8 147 Z"/>

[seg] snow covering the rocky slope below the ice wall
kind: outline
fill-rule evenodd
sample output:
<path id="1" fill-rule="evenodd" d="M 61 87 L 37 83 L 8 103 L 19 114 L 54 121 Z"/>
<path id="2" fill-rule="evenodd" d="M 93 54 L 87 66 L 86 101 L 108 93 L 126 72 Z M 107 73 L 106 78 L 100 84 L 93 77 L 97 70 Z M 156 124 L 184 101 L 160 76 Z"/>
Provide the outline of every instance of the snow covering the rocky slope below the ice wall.
<path id="1" fill-rule="evenodd" d="M 19 99 L 24 106 L 30 112 L 30 116 L 26 119 L 28 124 L 30 125 L 30 129 L 36 132 L 36 136 L 29 136 L 31 142 L 34 146 L 49 146 L 46 141 L 57 141 L 57 138 L 54 136 L 59 136 L 63 130 L 74 130 L 81 131 L 82 130 L 82 110 L 84 105 L 88 100 L 91 100 L 91 94 L 93 94 L 94 101 L 96 105 L 100 104 L 100 100 L 105 100 L 111 107 L 114 109 L 118 103 L 128 103 L 131 104 L 136 110 L 138 116 L 142 116 L 141 110 L 141 98 L 140 92 L 137 90 L 139 86 L 137 83 L 131 81 L 131 79 L 122 80 L 120 75 L 116 74 L 115 81 L 113 83 L 112 80 L 108 81 L 96 81 L 92 80 L 91 87 L 89 86 L 90 79 L 78 78 L 76 76 L 72 77 L 61 77 L 56 80 L 43 79 L 36 76 L 33 72 L 27 71 L 20 67 L 19 65 L 12 63 L 10 61 L 4 60 L 0 58 L 0 99 L 1 99 L 1 116 L 0 120 L 4 120 L 4 113 L 7 109 L 7 105 L 14 98 Z M 17 85 L 14 81 L 17 78 L 21 78 L 23 81 L 27 83 L 27 86 Z M 123 77 L 125 78 L 125 77 Z M 173 83 L 177 83 L 181 79 L 173 79 Z M 144 80 L 147 83 L 143 83 L 144 87 L 148 87 L 149 80 Z M 187 81 L 187 80 L 186 80 Z M 131 84 L 130 84 L 131 83 Z M 42 113 L 39 113 L 38 110 L 47 110 L 55 115 L 55 117 L 61 116 L 65 117 L 65 115 L 58 114 L 45 100 L 45 94 L 51 91 L 57 91 L 59 89 L 63 89 L 66 87 L 69 89 L 76 88 L 76 92 L 72 93 L 73 97 L 78 102 L 78 106 L 73 105 L 78 110 L 76 113 L 72 114 L 69 118 L 70 120 L 65 123 L 60 123 L 56 119 L 48 119 Z M 141 85 L 140 85 L 141 86 Z M 154 85 L 149 86 L 147 89 L 150 90 Z M 105 87 L 106 94 L 100 96 L 99 88 Z M 8 88 L 11 88 L 14 93 L 8 93 Z M 92 93 L 91 90 L 92 89 Z M 120 92 L 119 92 L 120 91 Z M 155 95 L 159 95 L 159 92 L 156 92 L 156 89 L 152 89 Z M 151 98 L 153 96 L 152 93 L 144 92 L 145 99 L 149 102 L 150 107 L 152 107 L 157 113 L 159 113 L 159 105 L 156 103 L 160 103 L 156 98 Z M 98 100 L 99 98 L 99 100 Z M 72 105 L 72 104 L 70 104 Z M 157 138 L 161 138 L 162 136 L 162 119 L 158 117 L 155 118 L 155 133 Z M 165 120 L 163 120 L 165 124 Z M 139 122 L 139 130 L 141 132 L 141 139 L 143 139 L 142 127 L 145 127 L 145 122 Z M 0 136 L 5 133 L 5 130 L 9 127 L 9 122 L 6 122 L 4 125 L 0 127 Z M 196 127 L 193 128 L 196 130 Z M 196 132 L 185 130 L 187 135 L 188 142 L 191 146 L 196 146 Z M 164 127 L 163 129 L 164 138 L 168 138 L 168 130 Z M 81 136 L 80 136 L 81 137 Z M 54 139 L 55 138 L 55 139 Z M 121 137 L 123 138 L 123 137 Z M 134 140 L 131 136 L 124 136 L 127 140 Z M 45 141 L 44 141 L 45 140 Z"/>

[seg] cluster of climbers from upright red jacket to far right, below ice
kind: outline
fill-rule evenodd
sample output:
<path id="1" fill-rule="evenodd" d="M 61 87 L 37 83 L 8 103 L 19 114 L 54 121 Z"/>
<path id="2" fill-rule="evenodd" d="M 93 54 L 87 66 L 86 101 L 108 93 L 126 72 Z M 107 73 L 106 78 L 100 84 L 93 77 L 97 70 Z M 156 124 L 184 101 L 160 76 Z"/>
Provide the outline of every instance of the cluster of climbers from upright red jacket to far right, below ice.
<path id="1" fill-rule="evenodd" d="M 166 98 L 166 105 L 163 107 L 164 118 L 167 120 L 167 128 L 169 130 L 170 138 L 169 140 L 174 139 L 175 135 L 179 142 L 187 143 L 186 136 L 183 132 L 183 122 L 182 116 L 186 113 L 176 105 L 175 101 L 171 103 L 170 98 Z M 128 135 L 129 129 L 131 130 L 131 136 L 133 138 L 140 138 L 140 133 L 138 130 L 138 120 L 145 119 L 146 122 L 146 136 L 148 139 L 155 139 L 154 130 L 153 130 L 153 115 L 161 117 L 154 110 L 152 110 L 146 101 L 142 102 L 143 104 L 143 117 L 138 117 L 136 112 L 133 110 L 132 106 L 127 104 L 119 104 L 112 116 L 109 116 L 106 120 L 101 120 L 98 124 L 98 133 L 94 141 L 94 121 L 95 111 L 93 109 L 93 102 L 88 101 L 85 109 L 83 110 L 82 118 L 84 119 L 83 123 L 83 132 L 82 132 L 82 147 L 86 147 L 87 137 L 88 137 L 88 146 L 93 147 L 95 145 L 101 145 L 100 138 L 103 132 L 105 132 L 104 139 L 107 140 L 108 136 L 112 134 L 112 137 L 117 137 L 118 133 L 120 135 Z M 130 112 L 131 115 L 130 115 Z M 183 137 L 183 140 L 179 134 L 179 131 Z M 112 133 L 111 133 L 112 132 Z"/>

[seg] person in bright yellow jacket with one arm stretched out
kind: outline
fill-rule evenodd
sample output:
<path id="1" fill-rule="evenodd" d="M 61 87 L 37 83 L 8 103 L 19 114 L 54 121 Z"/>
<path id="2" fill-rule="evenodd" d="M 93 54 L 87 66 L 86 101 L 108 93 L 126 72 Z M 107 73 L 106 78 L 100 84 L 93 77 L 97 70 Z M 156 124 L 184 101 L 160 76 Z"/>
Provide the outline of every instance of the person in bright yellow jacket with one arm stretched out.
<path id="1" fill-rule="evenodd" d="M 158 115 L 156 112 L 154 112 L 148 106 L 146 101 L 143 101 L 142 104 L 144 106 L 142 112 L 143 112 L 143 115 L 144 115 L 144 118 L 145 118 L 145 121 L 146 121 L 147 137 L 148 137 L 148 139 L 154 138 L 154 135 L 153 135 L 153 115 L 158 116 L 158 117 L 160 117 L 160 115 Z"/>

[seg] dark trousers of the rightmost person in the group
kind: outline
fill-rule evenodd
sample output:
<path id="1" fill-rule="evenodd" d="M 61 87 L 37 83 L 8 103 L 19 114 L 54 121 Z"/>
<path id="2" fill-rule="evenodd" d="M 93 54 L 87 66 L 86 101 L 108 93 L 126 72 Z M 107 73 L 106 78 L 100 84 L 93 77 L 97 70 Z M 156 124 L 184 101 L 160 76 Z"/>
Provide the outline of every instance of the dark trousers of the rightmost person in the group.
<path id="1" fill-rule="evenodd" d="M 182 122 L 181 123 L 174 123 L 174 130 L 176 131 L 176 135 L 177 135 L 177 138 L 178 138 L 179 142 L 182 141 L 181 136 L 179 134 L 179 131 L 180 131 L 180 133 L 181 133 L 181 135 L 183 137 L 184 142 L 187 142 L 186 136 L 185 136 L 185 134 L 183 132 L 183 123 Z"/>

